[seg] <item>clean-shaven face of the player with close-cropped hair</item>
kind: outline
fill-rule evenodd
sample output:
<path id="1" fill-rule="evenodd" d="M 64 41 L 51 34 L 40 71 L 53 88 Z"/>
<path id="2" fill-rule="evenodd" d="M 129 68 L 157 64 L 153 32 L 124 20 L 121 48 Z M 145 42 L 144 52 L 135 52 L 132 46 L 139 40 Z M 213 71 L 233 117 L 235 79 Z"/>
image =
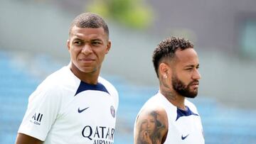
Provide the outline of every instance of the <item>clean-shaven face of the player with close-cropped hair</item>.
<path id="1" fill-rule="evenodd" d="M 103 28 L 74 26 L 68 40 L 68 50 L 78 74 L 100 72 L 102 61 L 110 50 L 110 42 Z"/>

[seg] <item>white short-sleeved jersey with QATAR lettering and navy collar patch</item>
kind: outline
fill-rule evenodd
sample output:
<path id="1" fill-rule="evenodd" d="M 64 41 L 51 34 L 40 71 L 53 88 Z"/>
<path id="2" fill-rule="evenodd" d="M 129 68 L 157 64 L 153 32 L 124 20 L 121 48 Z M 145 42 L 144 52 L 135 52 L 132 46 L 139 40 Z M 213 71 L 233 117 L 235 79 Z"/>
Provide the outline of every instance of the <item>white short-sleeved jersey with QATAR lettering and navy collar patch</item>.
<path id="1" fill-rule="evenodd" d="M 63 67 L 31 94 L 18 133 L 47 144 L 114 143 L 117 106 L 110 82 L 99 77 L 87 84 Z"/>

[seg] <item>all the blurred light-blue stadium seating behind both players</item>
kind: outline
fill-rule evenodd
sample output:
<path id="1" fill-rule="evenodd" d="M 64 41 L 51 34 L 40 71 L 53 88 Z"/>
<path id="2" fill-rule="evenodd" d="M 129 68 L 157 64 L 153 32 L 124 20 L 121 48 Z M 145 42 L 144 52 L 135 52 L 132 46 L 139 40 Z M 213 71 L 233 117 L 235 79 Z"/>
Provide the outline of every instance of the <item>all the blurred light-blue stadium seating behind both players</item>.
<path id="1" fill-rule="evenodd" d="M 41 57 L 40 62 L 44 63 L 44 69 L 54 71 L 48 57 Z M 18 126 L 26 111 L 28 96 L 43 80 L 35 77 L 26 68 L 17 67 L 18 64 L 11 54 L 0 50 L 0 144 L 14 143 Z M 158 88 L 132 86 L 122 77 L 103 77 L 109 79 L 119 91 L 115 143 L 131 144 L 137 113 Z M 206 96 L 198 96 L 191 101 L 196 104 L 201 114 L 207 144 L 256 143 L 255 110 L 225 107 Z"/>

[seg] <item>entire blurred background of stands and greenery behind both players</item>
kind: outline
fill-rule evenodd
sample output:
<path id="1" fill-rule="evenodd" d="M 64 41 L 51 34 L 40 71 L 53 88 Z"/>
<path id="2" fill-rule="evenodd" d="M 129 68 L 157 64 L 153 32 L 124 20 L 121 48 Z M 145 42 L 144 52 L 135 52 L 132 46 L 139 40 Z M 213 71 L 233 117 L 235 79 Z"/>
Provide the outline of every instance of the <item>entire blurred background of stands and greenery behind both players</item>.
<path id="1" fill-rule="evenodd" d="M 199 55 L 202 79 L 190 100 L 206 144 L 256 143 L 255 6 L 254 0 L 1 0 L 0 143 L 14 143 L 28 96 L 68 65 L 68 28 L 85 11 L 110 27 L 102 77 L 119 91 L 115 143 L 133 142 L 137 112 L 158 90 L 152 52 L 170 35 L 191 40 Z"/>

